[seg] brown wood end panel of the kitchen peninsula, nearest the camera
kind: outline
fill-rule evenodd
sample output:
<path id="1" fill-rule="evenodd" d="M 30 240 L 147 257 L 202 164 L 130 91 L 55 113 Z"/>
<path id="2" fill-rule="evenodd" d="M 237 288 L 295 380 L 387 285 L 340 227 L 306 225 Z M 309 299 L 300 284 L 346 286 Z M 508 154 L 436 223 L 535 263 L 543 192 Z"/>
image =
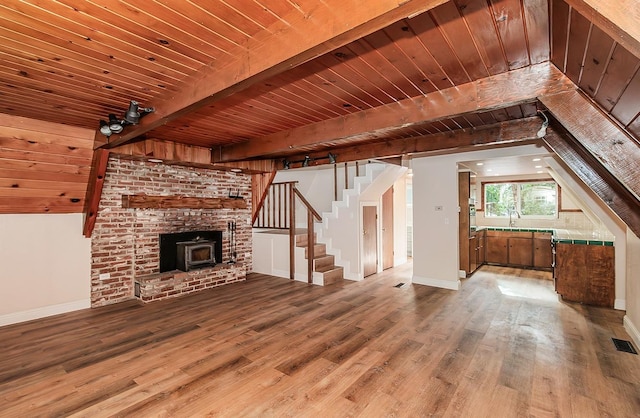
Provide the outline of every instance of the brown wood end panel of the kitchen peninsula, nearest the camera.
<path id="1" fill-rule="evenodd" d="M 614 247 L 558 243 L 553 277 L 562 299 L 613 308 Z"/>

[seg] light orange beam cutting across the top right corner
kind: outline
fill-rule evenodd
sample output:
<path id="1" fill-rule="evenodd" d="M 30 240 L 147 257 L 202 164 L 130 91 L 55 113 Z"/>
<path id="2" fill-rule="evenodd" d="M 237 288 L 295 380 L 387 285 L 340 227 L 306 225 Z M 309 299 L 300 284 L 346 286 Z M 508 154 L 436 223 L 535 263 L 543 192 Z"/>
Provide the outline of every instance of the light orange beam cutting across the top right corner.
<path id="1" fill-rule="evenodd" d="M 640 7 L 637 0 L 565 0 L 614 41 L 640 58 Z"/>

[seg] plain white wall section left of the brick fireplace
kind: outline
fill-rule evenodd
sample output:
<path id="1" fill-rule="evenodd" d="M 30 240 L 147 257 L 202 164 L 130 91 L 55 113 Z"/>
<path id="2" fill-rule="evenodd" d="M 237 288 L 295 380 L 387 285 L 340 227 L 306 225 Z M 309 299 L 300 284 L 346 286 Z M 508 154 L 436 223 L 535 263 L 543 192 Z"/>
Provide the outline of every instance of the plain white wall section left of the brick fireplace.
<path id="1" fill-rule="evenodd" d="M 0 215 L 0 325 L 91 306 L 82 214 Z"/>

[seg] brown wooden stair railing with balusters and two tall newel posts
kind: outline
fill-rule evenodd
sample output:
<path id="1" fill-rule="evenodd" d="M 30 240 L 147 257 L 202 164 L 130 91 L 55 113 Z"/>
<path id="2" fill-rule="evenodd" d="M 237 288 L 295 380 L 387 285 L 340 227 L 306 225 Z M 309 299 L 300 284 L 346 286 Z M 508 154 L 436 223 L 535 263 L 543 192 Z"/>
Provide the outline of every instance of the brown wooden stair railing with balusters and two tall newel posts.
<path id="1" fill-rule="evenodd" d="M 297 197 L 307 210 L 307 282 L 313 283 L 315 220 L 322 221 L 322 217 L 296 188 L 297 183 L 297 181 L 272 183 L 256 211 L 253 227 L 289 230 L 289 278 L 293 280 L 295 278 Z"/>

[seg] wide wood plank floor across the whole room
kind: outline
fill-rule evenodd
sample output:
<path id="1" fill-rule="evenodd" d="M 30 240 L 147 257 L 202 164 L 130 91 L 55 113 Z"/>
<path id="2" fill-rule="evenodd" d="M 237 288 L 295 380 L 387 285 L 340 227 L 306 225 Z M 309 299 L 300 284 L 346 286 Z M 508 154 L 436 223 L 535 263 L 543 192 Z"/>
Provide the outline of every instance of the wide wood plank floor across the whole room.
<path id="1" fill-rule="evenodd" d="M 622 312 L 558 302 L 549 273 L 410 277 L 253 274 L 0 328 L 0 416 L 640 416 Z"/>

